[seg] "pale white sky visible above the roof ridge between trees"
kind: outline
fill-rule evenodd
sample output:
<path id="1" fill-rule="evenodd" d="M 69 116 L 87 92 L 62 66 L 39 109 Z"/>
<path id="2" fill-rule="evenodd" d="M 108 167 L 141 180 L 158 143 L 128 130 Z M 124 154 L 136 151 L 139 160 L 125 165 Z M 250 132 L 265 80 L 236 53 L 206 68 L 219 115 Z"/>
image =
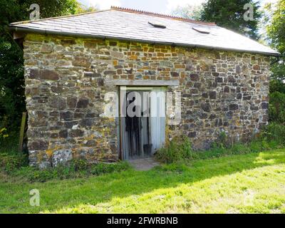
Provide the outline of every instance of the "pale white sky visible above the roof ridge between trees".
<path id="1" fill-rule="evenodd" d="M 160 14 L 170 14 L 177 6 L 199 5 L 205 0 L 78 0 L 86 6 L 97 6 L 99 9 L 110 9 L 110 6 L 121 6 L 131 9 L 152 11 Z M 267 2 L 277 0 L 261 0 L 264 5 Z"/>

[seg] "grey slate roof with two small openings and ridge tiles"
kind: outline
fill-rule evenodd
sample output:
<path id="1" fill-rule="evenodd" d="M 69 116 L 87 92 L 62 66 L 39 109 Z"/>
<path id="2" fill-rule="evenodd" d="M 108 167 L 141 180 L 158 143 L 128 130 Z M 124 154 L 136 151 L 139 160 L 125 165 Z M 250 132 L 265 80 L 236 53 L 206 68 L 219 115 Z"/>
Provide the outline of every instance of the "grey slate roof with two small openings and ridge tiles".
<path id="1" fill-rule="evenodd" d="M 155 28 L 149 22 L 165 25 L 166 28 Z M 15 31 L 115 38 L 175 46 L 279 55 L 278 51 L 274 51 L 268 46 L 212 23 L 118 7 L 87 14 L 16 22 L 10 24 L 10 27 Z M 201 30 L 203 33 L 197 30 Z M 207 31 L 209 33 L 204 33 Z"/>

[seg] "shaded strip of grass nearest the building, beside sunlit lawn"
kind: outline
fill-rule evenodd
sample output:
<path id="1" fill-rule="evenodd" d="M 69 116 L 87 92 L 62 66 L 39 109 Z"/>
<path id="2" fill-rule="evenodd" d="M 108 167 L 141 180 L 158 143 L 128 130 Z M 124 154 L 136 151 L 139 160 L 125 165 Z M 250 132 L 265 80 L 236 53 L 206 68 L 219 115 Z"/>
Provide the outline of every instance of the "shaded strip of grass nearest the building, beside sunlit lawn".
<path id="1" fill-rule="evenodd" d="M 114 197 L 142 195 L 157 189 L 177 187 L 284 162 L 284 150 L 275 150 L 197 160 L 189 165 L 163 165 L 143 172 L 128 170 L 86 179 L 26 183 L 21 186 L 17 183 L 5 183 L 0 187 L 0 197 L 4 197 L 0 207 L 3 212 L 12 213 L 45 210 L 53 212 L 57 209 L 76 208 L 82 204 L 109 202 Z M 33 188 L 41 192 L 40 207 L 31 207 L 28 204 L 31 197 L 28 192 Z"/>

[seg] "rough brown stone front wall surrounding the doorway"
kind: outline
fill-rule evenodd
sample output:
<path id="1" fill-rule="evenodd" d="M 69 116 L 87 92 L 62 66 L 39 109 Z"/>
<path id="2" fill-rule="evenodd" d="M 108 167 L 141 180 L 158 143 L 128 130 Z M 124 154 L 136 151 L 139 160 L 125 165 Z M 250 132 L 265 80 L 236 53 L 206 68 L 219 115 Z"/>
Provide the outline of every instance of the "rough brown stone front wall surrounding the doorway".
<path id="1" fill-rule="evenodd" d="M 118 160 L 114 118 L 104 118 L 110 79 L 179 80 L 182 122 L 167 138 L 188 135 L 209 147 L 221 131 L 249 139 L 268 121 L 269 58 L 128 41 L 28 34 L 24 41 L 28 149 L 31 165 L 54 155 Z"/>

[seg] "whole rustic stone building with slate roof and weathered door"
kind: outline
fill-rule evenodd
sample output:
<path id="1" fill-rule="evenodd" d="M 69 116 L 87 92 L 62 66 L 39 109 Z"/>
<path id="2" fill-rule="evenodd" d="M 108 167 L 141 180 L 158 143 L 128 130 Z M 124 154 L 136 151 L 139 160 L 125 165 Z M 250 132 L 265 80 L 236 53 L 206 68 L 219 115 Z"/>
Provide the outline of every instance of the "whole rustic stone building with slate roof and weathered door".
<path id="1" fill-rule="evenodd" d="M 268 122 L 269 57 L 279 53 L 215 24 L 113 7 L 10 27 L 24 41 L 31 165 L 150 156 L 182 135 L 207 149 L 221 132 L 248 140 Z M 132 91 L 160 94 L 145 110 L 166 118 L 123 117 Z M 167 92 L 181 104 L 175 124 Z M 105 115 L 110 103 L 118 115 Z"/>

